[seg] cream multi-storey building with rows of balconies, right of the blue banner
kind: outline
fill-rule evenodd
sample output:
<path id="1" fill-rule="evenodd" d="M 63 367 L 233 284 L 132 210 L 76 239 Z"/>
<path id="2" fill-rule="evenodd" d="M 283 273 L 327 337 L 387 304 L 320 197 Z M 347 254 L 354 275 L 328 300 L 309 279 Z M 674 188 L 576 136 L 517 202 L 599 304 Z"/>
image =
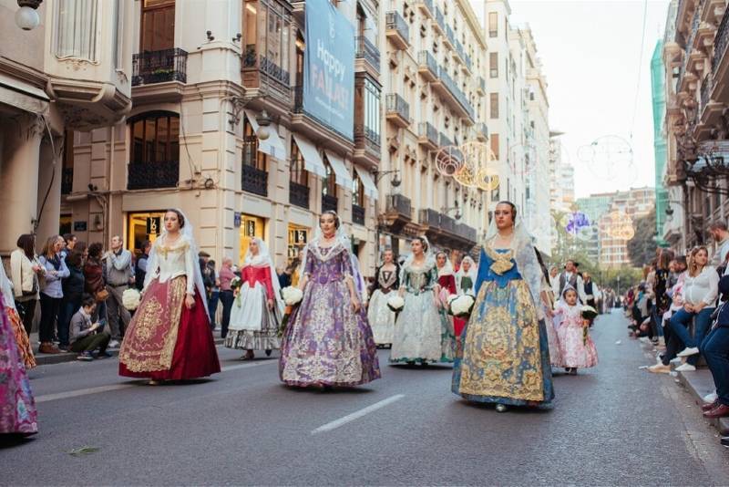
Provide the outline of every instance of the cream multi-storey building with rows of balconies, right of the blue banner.
<path id="1" fill-rule="evenodd" d="M 443 151 L 465 157 L 465 143 L 488 143 L 486 38 L 466 0 L 394 0 L 384 27 L 379 243 L 402 254 L 425 233 L 437 248 L 470 252 L 487 225 L 488 193 L 436 161 Z"/>

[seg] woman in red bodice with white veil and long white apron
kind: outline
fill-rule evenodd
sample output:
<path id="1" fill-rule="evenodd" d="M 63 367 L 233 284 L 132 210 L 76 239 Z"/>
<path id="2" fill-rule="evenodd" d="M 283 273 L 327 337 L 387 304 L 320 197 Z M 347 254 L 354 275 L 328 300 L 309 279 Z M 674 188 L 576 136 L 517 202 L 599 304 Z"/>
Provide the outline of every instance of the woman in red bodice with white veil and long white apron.
<path id="1" fill-rule="evenodd" d="M 245 350 L 243 360 L 252 360 L 253 350 L 265 350 L 266 355 L 271 355 L 271 350 L 281 348 L 279 325 L 284 306 L 276 268 L 260 238 L 251 239 L 241 281 L 233 301 L 225 347 Z"/>

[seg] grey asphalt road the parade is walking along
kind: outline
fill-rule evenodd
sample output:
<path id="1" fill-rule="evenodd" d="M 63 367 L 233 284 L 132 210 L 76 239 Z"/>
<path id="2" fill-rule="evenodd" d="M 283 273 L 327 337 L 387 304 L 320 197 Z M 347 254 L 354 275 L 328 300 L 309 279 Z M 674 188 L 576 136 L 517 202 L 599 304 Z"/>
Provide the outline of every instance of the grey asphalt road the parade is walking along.
<path id="1" fill-rule="evenodd" d="M 450 392 L 451 368 L 387 365 L 360 388 L 279 382 L 277 360 L 219 347 L 210 380 L 149 387 L 115 359 L 31 372 L 40 433 L 0 448 L 0 484 L 720 485 L 729 453 L 616 311 L 601 363 L 557 375 L 552 410 L 498 413 Z M 616 341 L 621 340 L 621 345 Z M 73 456 L 69 451 L 98 451 Z"/>

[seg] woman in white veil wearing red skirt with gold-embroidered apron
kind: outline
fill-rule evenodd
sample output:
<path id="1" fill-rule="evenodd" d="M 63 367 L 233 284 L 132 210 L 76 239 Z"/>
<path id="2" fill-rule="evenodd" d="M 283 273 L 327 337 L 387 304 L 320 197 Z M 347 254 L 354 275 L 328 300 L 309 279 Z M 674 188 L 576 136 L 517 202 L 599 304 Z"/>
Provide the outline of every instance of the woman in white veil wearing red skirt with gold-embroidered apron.
<path id="1" fill-rule="evenodd" d="M 143 293 L 119 351 L 119 375 L 156 385 L 220 372 L 192 224 L 180 210 L 165 212 Z"/>

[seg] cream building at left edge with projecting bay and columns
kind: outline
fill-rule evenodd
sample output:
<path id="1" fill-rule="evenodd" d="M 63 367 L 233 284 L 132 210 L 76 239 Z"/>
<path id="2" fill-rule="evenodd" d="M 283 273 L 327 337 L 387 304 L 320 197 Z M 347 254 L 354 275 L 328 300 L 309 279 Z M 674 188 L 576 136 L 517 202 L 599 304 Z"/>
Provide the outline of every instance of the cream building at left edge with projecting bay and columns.
<path id="1" fill-rule="evenodd" d="M 132 6 L 46 1 L 26 6 L 37 26 L 25 30 L 15 25 L 18 3 L 0 0 L 0 254 L 21 233 L 37 233 L 38 248 L 58 233 L 61 193 L 74 182 L 62 164 L 70 131 L 112 125 L 131 109 Z M 79 163 L 77 174 L 89 170 Z"/>

